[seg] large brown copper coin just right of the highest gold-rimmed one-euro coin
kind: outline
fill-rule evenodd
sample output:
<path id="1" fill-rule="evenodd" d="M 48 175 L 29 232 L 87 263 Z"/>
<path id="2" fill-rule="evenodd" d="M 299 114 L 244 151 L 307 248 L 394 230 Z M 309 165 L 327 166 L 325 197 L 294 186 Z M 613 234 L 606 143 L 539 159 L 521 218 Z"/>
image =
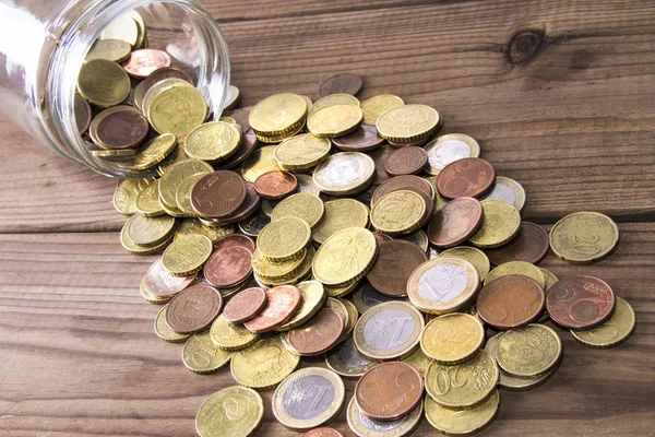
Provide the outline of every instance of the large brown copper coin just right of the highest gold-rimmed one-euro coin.
<path id="1" fill-rule="evenodd" d="M 515 329 L 536 320 L 544 311 L 544 288 L 532 277 L 507 274 L 480 290 L 477 311 L 496 329 Z"/>

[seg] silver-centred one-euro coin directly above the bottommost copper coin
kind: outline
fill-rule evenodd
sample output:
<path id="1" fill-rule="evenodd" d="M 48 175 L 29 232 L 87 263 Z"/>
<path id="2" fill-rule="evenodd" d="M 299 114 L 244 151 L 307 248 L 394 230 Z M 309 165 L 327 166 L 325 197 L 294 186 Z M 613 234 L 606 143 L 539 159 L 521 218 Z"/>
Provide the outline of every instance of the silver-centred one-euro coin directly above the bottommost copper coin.
<path id="1" fill-rule="evenodd" d="M 412 305 L 386 302 L 366 311 L 353 338 L 357 350 L 370 359 L 395 359 L 416 347 L 425 321 Z"/>

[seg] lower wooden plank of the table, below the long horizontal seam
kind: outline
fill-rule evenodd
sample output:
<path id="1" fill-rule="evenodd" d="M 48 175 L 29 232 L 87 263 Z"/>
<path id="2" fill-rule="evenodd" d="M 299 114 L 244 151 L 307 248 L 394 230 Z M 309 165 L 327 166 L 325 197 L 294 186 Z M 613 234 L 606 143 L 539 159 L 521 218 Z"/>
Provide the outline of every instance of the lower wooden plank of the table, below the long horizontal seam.
<path id="1" fill-rule="evenodd" d="M 606 261 L 570 265 L 549 256 L 556 274 L 605 279 L 636 311 L 633 336 L 597 351 L 559 330 L 564 361 L 529 392 L 501 392 L 484 435 L 646 435 L 655 420 L 655 224 L 621 224 Z M 116 233 L 0 235 L 0 429 L 3 436 L 187 436 L 203 400 L 234 385 L 229 370 L 194 375 L 181 345 L 152 332 L 159 309 L 139 295 L 155 257 L 124 252 Z M 305 366 L 322 365 L 319 358 Z M 347 382 L 346 399 L 354 382 Z M 271 414 L 261 435 L 287 436 Z M 342 413 L 333 424 L 352 433 Z M 437 435 L 424 420 L 419 434 Z"/>

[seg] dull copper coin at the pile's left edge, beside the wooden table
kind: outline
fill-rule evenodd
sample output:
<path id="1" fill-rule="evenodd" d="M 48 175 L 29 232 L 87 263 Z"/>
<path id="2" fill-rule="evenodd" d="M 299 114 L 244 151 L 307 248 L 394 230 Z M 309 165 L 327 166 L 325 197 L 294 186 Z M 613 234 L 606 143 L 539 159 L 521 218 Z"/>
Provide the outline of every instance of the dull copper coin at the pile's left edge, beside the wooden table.
<path id="1" fill-rule="evenodd" d="M 166 323 L 180 334 L 207 329 L 221 314 L 223 297 L 213 286 L 198 284 L 178 293 L 166 311 Z"/>

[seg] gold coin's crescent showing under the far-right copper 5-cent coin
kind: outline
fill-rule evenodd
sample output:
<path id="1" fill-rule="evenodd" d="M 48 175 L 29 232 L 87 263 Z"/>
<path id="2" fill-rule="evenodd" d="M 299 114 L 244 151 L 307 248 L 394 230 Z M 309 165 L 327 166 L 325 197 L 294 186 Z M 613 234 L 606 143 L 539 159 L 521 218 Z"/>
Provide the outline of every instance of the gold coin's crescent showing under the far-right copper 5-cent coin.
<path id="1" fill-rule="evenodd" d="M 571 331 L 571 334 L 585 346 L 606 349 L 628 340 L 634 331 L 634 310 L 630 304 L 617 297 L 615 311 L 605 323 L 587 331 Z"/>

